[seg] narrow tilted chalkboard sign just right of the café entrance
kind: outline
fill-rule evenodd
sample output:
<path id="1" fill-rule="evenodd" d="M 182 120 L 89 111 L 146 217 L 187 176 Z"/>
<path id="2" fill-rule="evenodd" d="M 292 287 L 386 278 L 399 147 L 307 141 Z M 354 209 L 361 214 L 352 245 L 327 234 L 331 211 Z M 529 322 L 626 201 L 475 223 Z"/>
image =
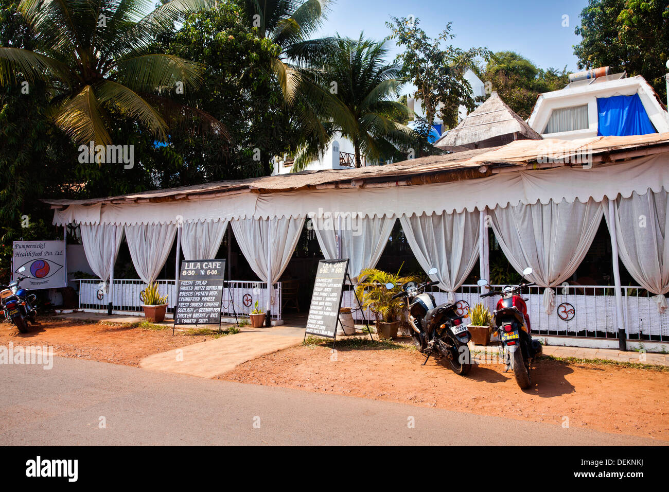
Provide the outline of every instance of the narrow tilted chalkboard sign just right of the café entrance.
<path id="1" fill-rule="evenodd" d="M 311 295 L 306 333 L 334 338 L 341 307 L 341 293 L 349 270 L 349 260 L 320 260 Z"/>

